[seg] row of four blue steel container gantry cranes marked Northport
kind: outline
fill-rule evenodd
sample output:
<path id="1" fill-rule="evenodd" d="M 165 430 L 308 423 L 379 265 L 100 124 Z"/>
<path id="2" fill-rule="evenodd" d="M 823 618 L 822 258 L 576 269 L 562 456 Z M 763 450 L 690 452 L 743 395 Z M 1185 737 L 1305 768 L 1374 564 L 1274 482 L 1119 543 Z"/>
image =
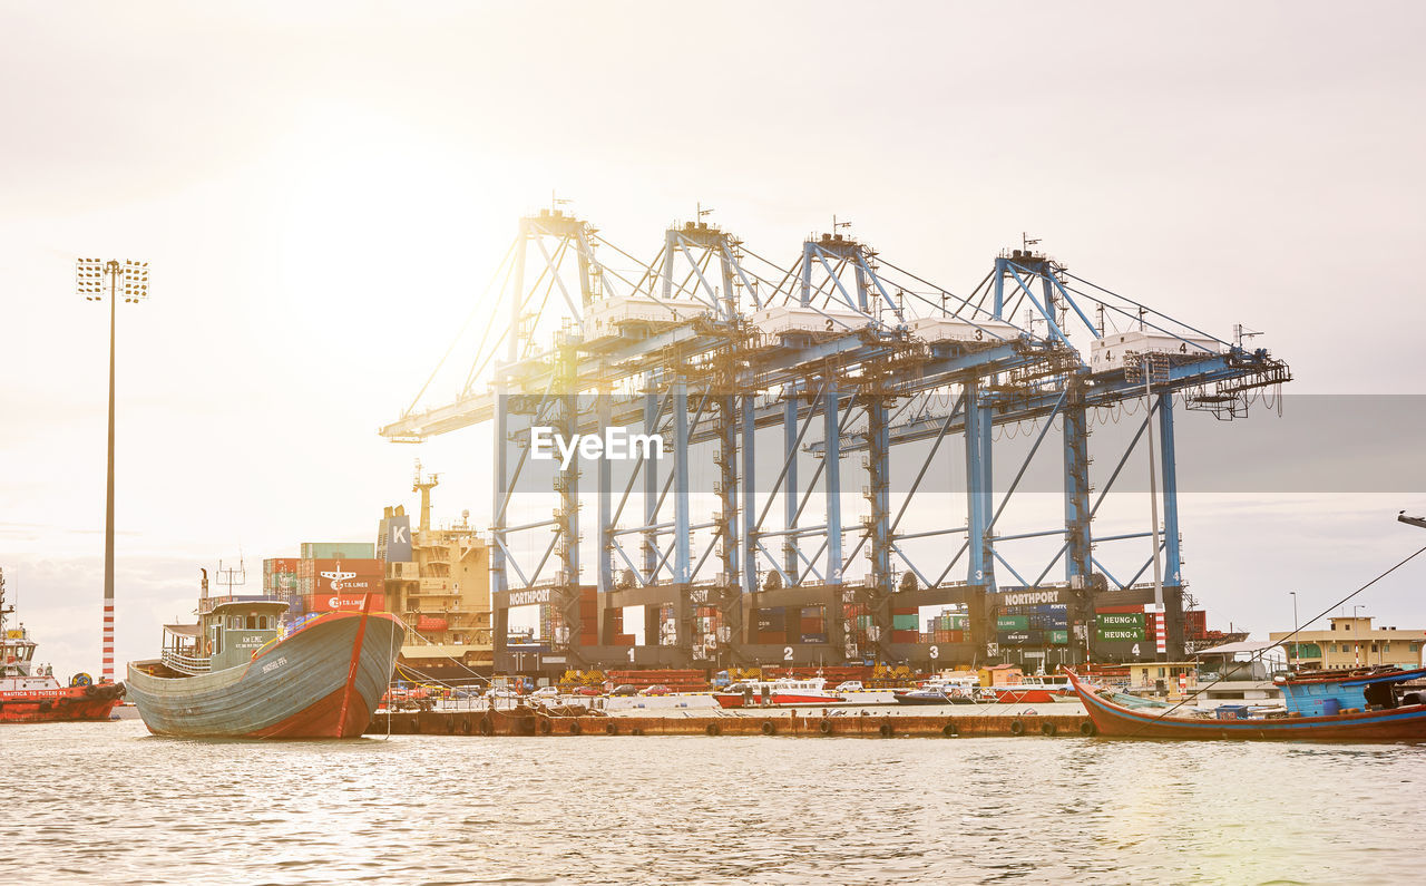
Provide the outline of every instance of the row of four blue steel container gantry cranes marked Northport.
<path id="1" fill-rule="evenodd" d="M 645 263 L 589 223 L 545 210 L 520 220 L 495 287 L 501 308 L 461 395 L 418 409 L 424 387 L 381 432 L 411 442 L 493 427 L 496 668 L 511 666 L 509 608 L 529 604 L 560 613 L 549 659 L 569 666 L 970 661 L 994 651 L 987 594 L 1070 588 L 1082 622 L 1095 592 L 1142 588 L 1159 556 L 1172 604 L 1184 586 L 1175 398 L 1232 418 L 1246 392 L 1291 380 L 1266 350 L 1215 338 L 1028 250 L 1002 253 L 957 295 L 840 231 L 809 238 L 783 268 L 724 230 L 687 223 Z M 1122 404 L 1149 408 L 1095 489 L 1091 417 Z M 667 452 L 617 471 L 609 458 L 572 458 L 540 472 L 538 427 L 566 441 L 619 428 L 659 437 Z M 1005 471 L 995 437 L 1014 427 L 1032 431 Z M 1145 438 L 1159 454 L 1162 528 L 1155 511 L 1148 529 L 1097 535 L 1095 515 Z M 1055 448 L 1062 521 L 1001 532 L 1031 459 Z M 843 464 L 853 454 L 860 478 Z M 951 459 L 965 502 L 955 525 L 917 506 L 928 474 Z M 896 494 L 894 461 L 915 465 Z M 692 474 L 709 465 L 713 482 L 694 488 Z M 1011 478 L 1002 488 L 997 471 Z M 860 506 L 846 501 L 856 485 Z M 512 502 L 532 495 L 555 502 L 550 516 L 515 521 Z M 850 519 L 854 511 L 864 515 Z M 1014 555 L 1015 542 L 1035 538 L 1058 542 L 1048 562 Z M 1138 545 L 1148 559 L 1111 572 L 1108 545 Z M 1057 568 L 1061 578 L 1048 581 Z M 934 605 L 965 606 L 960 646 L 896 642 L 893 608 Z M 645 606 L 643 646 L 615 643 L 613 613 L 625 606 Z M 659 618 L 669 606 L 672 628 Z M 696 636 L 700 606 L 719 611 L 716 635 Z M 756 611 L 774 606 L 821 606 L 826 636 L 759 642 Z M 871 616 L 860 645 L 846 606 Z M 1171 641 L 1178 631 L 1171 606 Z"/>

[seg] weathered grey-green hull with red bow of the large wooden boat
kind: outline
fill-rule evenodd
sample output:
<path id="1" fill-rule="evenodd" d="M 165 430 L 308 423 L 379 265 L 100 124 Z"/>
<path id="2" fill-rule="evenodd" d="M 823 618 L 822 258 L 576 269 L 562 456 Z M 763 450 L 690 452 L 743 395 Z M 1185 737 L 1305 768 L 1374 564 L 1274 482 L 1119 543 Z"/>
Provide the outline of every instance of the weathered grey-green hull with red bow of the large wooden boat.
<path id="1" fill-rule="evenodd" d="M 157 676 L 157 659 L 133 662 L 128 699 L 154 735 L 356 738 L 391 682 L 404 638 L 389 615 L 331 613 L 214 673 Z"/>

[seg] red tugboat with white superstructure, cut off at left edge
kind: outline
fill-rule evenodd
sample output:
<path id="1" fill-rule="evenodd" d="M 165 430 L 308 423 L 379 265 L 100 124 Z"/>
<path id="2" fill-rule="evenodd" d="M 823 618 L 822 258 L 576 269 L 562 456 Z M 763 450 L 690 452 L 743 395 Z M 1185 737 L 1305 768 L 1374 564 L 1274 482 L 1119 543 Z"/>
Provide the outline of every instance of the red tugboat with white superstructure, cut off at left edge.
<path id="1" fill-rule="evenodd" d="M 124 695 L 123 683 L 98 683 L 76 673 L 68 686 L 54 679 L 54 668 L 34 663 L 36 643 L 24 625 L 6 628 L 14 606 L 4 605 L 0 571 L 0 723 L 57 723 L 107 720 Z"/>

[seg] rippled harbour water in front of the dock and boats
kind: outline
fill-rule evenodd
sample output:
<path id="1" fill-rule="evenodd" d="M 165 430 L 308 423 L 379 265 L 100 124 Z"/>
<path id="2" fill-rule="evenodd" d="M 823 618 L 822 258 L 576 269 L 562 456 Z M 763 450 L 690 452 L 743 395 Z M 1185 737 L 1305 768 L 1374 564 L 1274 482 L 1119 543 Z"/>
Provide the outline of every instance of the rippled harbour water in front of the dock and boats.
<path id="1" fill-rule="evenodd" d="M 1419 882 L 1426 745 L 0 728 L 26 883 Z"/>

